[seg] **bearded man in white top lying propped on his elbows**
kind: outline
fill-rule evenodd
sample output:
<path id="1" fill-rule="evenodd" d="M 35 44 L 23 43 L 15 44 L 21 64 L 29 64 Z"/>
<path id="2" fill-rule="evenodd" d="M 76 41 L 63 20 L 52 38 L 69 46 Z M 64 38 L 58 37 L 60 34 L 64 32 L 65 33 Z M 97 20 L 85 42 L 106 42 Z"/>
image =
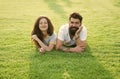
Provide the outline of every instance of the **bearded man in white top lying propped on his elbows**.
<path id="1" fill-rule="evenodd" d="M 72 13 L 69 24 L 60 27 L 56 43 L 57 50 L 78 53 L 85 50 L 87 30 L 82 25 L 82 19 L 79 13 Z"/>

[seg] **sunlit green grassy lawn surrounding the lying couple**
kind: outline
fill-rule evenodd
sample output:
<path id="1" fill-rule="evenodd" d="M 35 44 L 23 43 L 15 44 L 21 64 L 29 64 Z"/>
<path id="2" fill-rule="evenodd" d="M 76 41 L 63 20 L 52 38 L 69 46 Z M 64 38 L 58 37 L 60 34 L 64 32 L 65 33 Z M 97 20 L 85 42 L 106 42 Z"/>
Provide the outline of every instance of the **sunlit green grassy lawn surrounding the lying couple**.
<path id="1" fill-rule="evenodd" d="M 83 54 L 40 54 L 30 34 L 40 15 L 58 32 L 72 12 L 88 30 Z M 120 0 L 0 0 L 0 79 L 119 79 Z"/>

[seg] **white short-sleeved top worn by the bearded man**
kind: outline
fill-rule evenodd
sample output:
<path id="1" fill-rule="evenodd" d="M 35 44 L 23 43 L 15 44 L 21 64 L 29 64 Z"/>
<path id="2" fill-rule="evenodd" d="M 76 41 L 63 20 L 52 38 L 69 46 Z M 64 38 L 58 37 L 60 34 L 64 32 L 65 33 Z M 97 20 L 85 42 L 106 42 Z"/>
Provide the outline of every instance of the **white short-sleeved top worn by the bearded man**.
<path id="1" fill-rule="evenodd" d="M 79 38 L 82 41 L 87 39 L 87 30 L 86 30 L 85 26 L 83 26 L 83 28 L 79 34 Z M 75 42 L 76 42 L 75 37 L 73 37 L 73 39 L 71 39 L 70 35 L 69 35 L 69 24 L 65 24 L 60 27 L 59 32 L 58 32 L 58 39 L 61 41 L 64 41 L 64 45 L 66 45 L 66 46 L 75 45 Z"/>

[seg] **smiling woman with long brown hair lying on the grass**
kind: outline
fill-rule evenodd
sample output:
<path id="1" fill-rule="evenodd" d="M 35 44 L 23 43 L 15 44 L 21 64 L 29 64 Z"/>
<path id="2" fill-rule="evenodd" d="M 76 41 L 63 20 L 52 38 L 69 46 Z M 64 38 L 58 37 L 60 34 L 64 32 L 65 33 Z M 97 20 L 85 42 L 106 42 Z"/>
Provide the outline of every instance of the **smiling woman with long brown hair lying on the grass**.
<path id="1" fill-rule="evenodd" d="M 41 53 L 51 51 L 55 46 L 57 36 L 50 19 L 45 16 L 39 17 L 35 22 L 31 37 Z"/>

